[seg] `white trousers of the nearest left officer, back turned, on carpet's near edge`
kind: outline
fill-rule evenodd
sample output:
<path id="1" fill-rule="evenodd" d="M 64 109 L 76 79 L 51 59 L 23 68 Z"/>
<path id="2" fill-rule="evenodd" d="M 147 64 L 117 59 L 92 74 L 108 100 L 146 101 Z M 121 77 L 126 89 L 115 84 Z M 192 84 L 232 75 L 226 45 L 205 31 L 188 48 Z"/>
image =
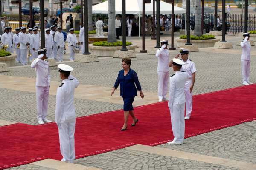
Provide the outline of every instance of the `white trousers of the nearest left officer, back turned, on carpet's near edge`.
<path id="1" fill-rule="evenodd" d="M 60 123 L 59 139 L 61 155 L 63 158 L 61 161 L 74 163 L 75 159 L 75 126 L 76 119 L 64 120 Z"/>

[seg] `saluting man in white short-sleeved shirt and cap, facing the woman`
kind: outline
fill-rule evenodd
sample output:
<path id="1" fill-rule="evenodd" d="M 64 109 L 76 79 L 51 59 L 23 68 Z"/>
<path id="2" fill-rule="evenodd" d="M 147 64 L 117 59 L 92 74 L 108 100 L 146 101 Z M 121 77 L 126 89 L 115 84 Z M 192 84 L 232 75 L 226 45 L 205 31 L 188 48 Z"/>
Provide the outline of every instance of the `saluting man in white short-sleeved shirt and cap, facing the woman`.
<path id="1" fill-rule="evenodd" d="M 193 88 L 195 84 L 195 63 L 192 62 L 189 57 L 189 50 L 180 48 L 180 54 L 175 56 L 175 58 L 178 58 L 181 56 L 181 60 L 185 63 L 182 65 L 181 71 L 186 71 L 188 73 L 188 78 L 186 80 L 185 84 L 185 100 L 186 100 L 186 116 L 185 120 L 190 119 L 191 112 L 192 112 L 192 106 L 193 106 Z M 172 66 L 172 63 L 169 63 L 169 66 Z"/>

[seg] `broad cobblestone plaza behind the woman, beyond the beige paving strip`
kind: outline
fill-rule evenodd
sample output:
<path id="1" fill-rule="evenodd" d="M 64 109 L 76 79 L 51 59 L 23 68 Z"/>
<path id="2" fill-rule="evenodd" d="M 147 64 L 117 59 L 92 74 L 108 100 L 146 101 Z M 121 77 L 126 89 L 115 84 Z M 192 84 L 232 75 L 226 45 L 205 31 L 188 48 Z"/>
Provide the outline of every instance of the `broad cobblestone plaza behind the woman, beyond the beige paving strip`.
<path id="1" fill-rule="evenodd" d="M 171 51 L 174 57 L 177 51 Z M 241 60 L 240 54 L 218 54 L 206 52 L 193 52 L 190 59 L 197 68 L 194 94 L 218 91 L 241 85 Z M 100 62 L 76 63 L 70 62 L 74 67 L 73 75 L 82 84 L 113 87 L 121 59 L 101 59 Z M 157 92 L 157 59 L 154 55 L 140 54 L 132 59 L 131 68 L 134 69 L 142 85 L 143 91 Z M 11 68 L 9 72 L 1 74 L 35 78 L 35 70 L 30 67 Z M 51 68 L 52 80 L 58 81 L 57 67 Z M 171 69 L 170 75 L 173 74 Z M 256 82 L 256 57 L 251 60 L 251 82 Z"/>

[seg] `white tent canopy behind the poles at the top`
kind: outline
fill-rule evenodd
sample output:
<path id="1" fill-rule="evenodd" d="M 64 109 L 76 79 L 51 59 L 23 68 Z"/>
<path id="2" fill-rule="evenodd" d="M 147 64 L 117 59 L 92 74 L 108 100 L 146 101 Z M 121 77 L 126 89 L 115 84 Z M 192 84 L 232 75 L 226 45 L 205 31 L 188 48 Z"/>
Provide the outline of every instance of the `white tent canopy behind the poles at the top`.
<path id="1" fill-rule="evenodd" d="M 142 0 L 126 0 L 126 14 L 142 14 Z M 156 3 L 155 3 L 156 10 Z M 93 6 L 94 14 L 108 14 L 108 1 Z M 174 6 L 175 14 L 186 13 L 186 10 Z M 116 0 L 116 14 L 122 14 L 122 0 Z M 153 3 L 145 4 L 145 14 L 153 14 Z M 172 14 L 172 4 L 160 1 L 160 14 Z"/>

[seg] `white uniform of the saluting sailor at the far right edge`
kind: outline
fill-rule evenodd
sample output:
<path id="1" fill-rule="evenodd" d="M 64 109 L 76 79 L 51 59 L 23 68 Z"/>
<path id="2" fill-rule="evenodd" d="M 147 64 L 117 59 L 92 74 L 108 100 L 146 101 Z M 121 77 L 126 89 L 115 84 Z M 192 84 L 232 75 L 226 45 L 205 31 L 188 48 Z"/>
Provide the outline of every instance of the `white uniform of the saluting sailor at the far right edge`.
<path id="1" fill-rule="evenodd" d="M 242 55 L 241 55 L 241 65 L 242 65 L 242 78 L 243 83 L 249 83 L 250 78 L 250 51 L 251 45 L 250 42 L 247 41 L 247 37 L 244 38 L 244 41 L 240 43 L 242 47 Z"/>

